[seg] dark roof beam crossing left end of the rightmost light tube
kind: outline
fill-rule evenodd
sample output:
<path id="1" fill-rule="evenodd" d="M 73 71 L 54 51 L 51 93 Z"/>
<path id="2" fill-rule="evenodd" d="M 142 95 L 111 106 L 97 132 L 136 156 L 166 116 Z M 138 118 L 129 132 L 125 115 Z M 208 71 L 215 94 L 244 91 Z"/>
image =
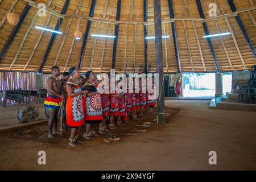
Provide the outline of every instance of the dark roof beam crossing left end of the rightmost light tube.
<path id="1" fill-rule="evenodd" d="M 197 9 L 198 9 L 199 14 L 200 14 L 200 18 L 205 19 L 203 7 L 201 5 L 201 1 L 196 0 L 196 5 L 197 5 Z M 207 26 L 206 22 L 203 22 L 203 27 L 204 27 L 205 35 L 209 35 L 209 30 L 208 30 L 208 26 Z M 213 56 L 213 62 L 214 62 L 214 65 L 216 67 L 216 72 L 221 72 L 220 66 L 218 65 L 217 56 L 216 56 L 214 48 L 213 48 L 212 40 L 210 38 L 207 38 L 207 42 L 209 44 L 210 52 L 212 53 L 212 56 Z"/>

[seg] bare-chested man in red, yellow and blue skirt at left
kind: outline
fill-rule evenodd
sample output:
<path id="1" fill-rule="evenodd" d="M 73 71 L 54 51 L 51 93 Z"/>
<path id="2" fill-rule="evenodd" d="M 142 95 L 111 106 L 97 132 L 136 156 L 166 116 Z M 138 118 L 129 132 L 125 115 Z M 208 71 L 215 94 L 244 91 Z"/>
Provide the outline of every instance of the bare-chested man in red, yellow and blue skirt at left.
<path id="1" fill-rule="evenodd" d="M 57 132 L 57 114 L 64 96 L 61 94 L 61 85 L 57 81 L 58 76 L 60 76 L 60 68 L 57 66 L 52 67 L 52 76 L 47 80 L 48 97 L 44 101 L 44 107 L 48 109 L 50 115 L 48 138 L 53 138 L 53 134 L 59 134 Z"/>

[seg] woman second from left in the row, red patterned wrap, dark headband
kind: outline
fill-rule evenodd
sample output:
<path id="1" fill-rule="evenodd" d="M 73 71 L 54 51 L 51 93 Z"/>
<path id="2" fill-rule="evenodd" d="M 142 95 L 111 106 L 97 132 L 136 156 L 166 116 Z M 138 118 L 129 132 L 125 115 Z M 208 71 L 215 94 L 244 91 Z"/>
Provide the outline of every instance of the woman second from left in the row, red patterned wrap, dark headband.
<path id="1" fill-rule="evenodd" d="M 102 122 L 102 106 L 101 106 L 101 95 L 97 91 L 96 74 L 93 71 L 88 71 L 85 74 L 88 81 L 85 82 L 82 87 L 83 90 L 87 90 L 87 98 L 85 101 L 86 113 L 85 113 L 85 123 L 86 131 L 83 135 L 85 139 L 90 139 L 91 137 L 98 136 L 94 131 L 94 125 L 100 124 Z"/>

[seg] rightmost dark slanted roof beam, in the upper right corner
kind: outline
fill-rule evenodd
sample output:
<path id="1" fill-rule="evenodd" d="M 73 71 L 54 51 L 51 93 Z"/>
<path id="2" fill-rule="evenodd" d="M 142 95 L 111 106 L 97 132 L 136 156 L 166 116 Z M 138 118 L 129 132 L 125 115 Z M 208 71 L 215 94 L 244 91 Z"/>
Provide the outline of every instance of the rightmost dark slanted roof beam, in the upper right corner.
<path id="1" fill-rule="evenodd" d="M 230 9 L 232 10 L 232 12 L 236 12 L 237 9 L 236 9 L 236 6 L 234 5 L 233 0 L 228 0 L 228 3 L 229 3 L 229 6 L 230 6 Z M 242 19 L 240 18 L 239 15 L 235 16 L 235 18 L 237 20 L 238 26 L 241 28 L 241 31 L 243 33 L 243 36 L 245 37 L 245 40 L 246 40 L 248 46 L 251 49 L 251 53 L 253 53 L 254 60 L 256 61 L 256 51 L 255 51 L 253 42 L 251 42 L 250 36 L 248 35 L 248 33 L 246 31 L 245 25 L 243 24 Z"/>

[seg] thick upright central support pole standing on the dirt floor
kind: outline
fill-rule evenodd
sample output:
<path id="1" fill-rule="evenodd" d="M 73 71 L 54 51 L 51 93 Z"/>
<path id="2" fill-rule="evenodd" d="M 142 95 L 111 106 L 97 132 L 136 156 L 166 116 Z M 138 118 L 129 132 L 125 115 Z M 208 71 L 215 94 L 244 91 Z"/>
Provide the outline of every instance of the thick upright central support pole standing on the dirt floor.
<path id="1" fill-rule="evenodd" d="M 157 99 L 158 106 L 158 123 L 166 123 L 164 114 L 164 72 L 163 72 L 163 45 L 162 45 L 162 20 L 161 4 L 159 0 L 154 0 L 154 22 L 155 22 L 155 61 L 156 73 L 159 74 L 159 96 Z"/>

